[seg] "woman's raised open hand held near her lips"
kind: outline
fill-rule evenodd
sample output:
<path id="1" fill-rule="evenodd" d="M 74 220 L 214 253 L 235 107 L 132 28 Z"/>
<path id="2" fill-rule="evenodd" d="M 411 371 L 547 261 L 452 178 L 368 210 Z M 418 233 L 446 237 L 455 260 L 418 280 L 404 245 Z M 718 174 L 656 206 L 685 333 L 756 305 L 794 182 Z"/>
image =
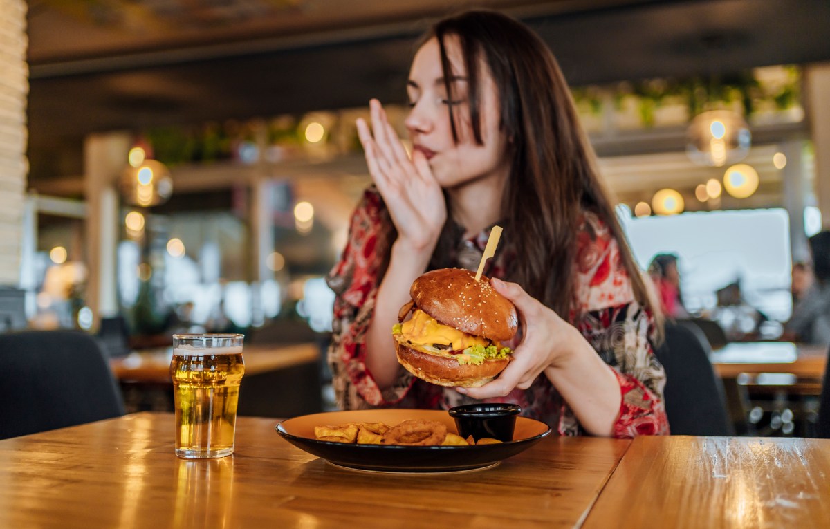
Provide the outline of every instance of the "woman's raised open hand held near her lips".
<path id="1" fill-rule="evenodd" d="M 398 229 L 398 240 L 413 250 L 431 250 L 447 220 L 441 186 L 423 153 L 416 151 L 409 158 L 380 102 L 372 99 L 369 107 L 372 130 L 358 119 L 358 135 L 369 173 Z"/>

